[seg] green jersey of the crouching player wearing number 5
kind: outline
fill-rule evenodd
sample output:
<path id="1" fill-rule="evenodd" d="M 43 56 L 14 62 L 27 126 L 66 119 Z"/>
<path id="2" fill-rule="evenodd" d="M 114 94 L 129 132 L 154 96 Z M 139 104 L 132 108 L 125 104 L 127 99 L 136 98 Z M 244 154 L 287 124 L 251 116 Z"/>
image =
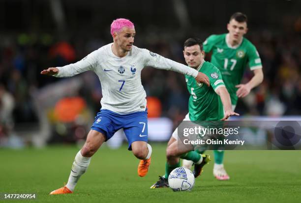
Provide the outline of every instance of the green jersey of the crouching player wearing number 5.
<path id="1" fill-rule="evenodd" d="M 219 70 L 210 62 L 204 61 L 197 69 L 209 77 L 210 87 L 197 83 L 194 77 L 185 76 L 190 93 L 188 110 L 191 121 L 218 121 L 224 117 L 224 110 L 215 90 L 225 86 Z"/>

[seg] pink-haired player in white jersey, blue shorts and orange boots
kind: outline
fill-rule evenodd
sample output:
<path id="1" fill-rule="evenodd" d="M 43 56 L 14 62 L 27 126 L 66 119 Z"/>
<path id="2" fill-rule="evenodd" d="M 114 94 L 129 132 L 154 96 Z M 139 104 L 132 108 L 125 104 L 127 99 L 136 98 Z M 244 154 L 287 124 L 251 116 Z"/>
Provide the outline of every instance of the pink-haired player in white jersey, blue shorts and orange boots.
<path id="1" fill-rule="evenodd" d="M 151 145 L 148 142 L 146 92 L 141 84 L 141 71 L 146 66 L 172 70 L 193 76 L 198 83 L 209 84 L 209 78 L 197 70 L 164 58 L 146 49 L 133 46 L 134 24 L 127 19 L 116 19 L 111 24 L 113 43 L 105 45 L 74 64 L 51 67 L 42 75 L 70 77 L 93 71 L 101 82 L 101 109 L 88 133 L 83 148 L 76 154 L 68 183 L 50 194 L 73 193 L 91 156 L 103 142 L 123 128 L 128 150 L 140 159 L 138 175 L 146 176 L 151 164 Z"/>

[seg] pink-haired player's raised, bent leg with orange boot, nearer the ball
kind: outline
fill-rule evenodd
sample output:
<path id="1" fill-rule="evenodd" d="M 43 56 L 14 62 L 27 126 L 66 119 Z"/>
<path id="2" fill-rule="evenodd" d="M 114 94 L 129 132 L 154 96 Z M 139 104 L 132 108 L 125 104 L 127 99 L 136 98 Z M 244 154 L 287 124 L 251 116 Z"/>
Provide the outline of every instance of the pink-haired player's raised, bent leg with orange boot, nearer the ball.
<path id="1" fill-rule="evenodd" d="M 135 141 L 131 144 L 133 154 L 141 159 L 138 165 L 138 176 L 144 177 L 151 165 L 151 145 L 144 141 Z"/>

